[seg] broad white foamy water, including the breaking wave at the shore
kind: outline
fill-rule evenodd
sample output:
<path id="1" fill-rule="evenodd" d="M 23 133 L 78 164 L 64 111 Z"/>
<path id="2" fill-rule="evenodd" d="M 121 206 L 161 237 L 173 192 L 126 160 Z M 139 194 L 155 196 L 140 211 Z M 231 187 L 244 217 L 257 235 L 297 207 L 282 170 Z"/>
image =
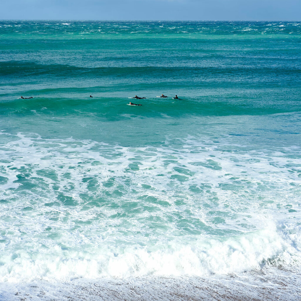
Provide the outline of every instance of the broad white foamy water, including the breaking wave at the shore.
<path id="1" fill-rule="evenodd" d="M 202 276 L 301 262 L 299 174 L 290 167 L 297 147 L 1 136 L 1 281 Z M 28 184 L 36 186 L 21 189 Z"/>

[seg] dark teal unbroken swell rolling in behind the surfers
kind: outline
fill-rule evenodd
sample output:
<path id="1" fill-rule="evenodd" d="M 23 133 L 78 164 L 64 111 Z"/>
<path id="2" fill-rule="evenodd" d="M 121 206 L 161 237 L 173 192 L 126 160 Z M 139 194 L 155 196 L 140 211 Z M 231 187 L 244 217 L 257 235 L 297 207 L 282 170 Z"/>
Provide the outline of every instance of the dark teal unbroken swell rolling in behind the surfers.
<path id="1" fill-rule="evenodd" d="M 193 77 L 206 78 L 206 81 L 212 78 L 225 78 L 227 76 L 239 76 L 241 80 L 249 78 L 262 79 L 282 78 L 291 82 L 300 81 L 300 69 L 296 67 L 160 67 L 160 66 L 144 66 L 144 67 L 76 67 L 71 65 L 51 64 L 43 65 L 34 62 L 8 61 L 0 63 L 1 74 L 4 77 L 9 76 L 53 76 L 53 77 L 108 77 L 116 76 L 121 78 L 189 78 Z"/>

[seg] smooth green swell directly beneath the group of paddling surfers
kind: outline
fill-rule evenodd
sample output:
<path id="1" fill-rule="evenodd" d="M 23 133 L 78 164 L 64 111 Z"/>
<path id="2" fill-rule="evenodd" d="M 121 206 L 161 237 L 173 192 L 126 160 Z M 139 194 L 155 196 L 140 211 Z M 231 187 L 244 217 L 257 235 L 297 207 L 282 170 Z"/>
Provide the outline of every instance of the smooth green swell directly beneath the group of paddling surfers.
<path id="1" fill-rule="evenodd" d="M 142 104 L 142 107 L 130 107 L 126 104 L 132 101 Z M 0 114 L 11 113 L 32 115 L 41 113 L 53 115 L 85 115 L 96 114 L 108 119 L 124 119 L 125 113 L 139 114 L 144 117 L 159 117 L 164 115 L 182 118 L 183 116 L 229 116 L 229 115 L 271 115 L 277 113 L 301 112 L 300 102 L 275 101 L 262 103 L 253 101 L 229 101 L 226 98 L 206 100 L 206 98 L 185 98 L 161 100 L 149 98 L 131 100 L 125 98 L 32 98 L 16 99 L 2 102 Z"/>

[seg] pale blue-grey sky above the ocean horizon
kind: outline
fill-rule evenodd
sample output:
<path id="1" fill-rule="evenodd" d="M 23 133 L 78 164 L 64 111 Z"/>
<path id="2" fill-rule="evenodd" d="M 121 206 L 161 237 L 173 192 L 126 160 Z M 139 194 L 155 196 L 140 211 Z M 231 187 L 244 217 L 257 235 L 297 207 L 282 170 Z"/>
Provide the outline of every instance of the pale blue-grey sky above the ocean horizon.
<path id="1" fill-rule="evenodd" d="M 0 0 L 2 20 L 301 20 L 301 0 Z"/>

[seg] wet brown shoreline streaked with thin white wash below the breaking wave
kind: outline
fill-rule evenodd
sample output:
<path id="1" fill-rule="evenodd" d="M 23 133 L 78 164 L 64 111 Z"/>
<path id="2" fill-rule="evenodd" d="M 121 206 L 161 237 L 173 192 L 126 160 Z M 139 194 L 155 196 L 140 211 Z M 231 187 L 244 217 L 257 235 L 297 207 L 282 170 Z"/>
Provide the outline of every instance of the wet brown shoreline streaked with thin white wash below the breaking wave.
<path id="1" fill-rule="evenodd" d="M 0 299 L 293 301 L 301 297 L 301 274 L 297 269 L 268 267 L 207 277 L 81 278 L 61 283 L 33 281 L 28 284 L 8 284 L 7 289 L 2 290 Z"/>

